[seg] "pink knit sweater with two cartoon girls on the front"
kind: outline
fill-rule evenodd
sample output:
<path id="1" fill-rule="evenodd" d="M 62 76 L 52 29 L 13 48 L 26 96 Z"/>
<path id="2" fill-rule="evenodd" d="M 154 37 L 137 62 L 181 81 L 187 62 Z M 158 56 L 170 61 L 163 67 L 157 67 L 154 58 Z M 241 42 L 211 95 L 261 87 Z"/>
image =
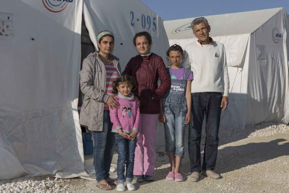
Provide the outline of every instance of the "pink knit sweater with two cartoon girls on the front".
<path id="1" fill-rule="evenodd" d="M 132 133 L 133 130 L 138 132 L 140 125 L 140 113 L 138 101 L 134 98 L 133 93 L 129 96 L 123 96 L 118 92 L 115 96 L 120 104 L 119 109 L 109 109 L 110 120 L 113 123 L 112 132 L 118 133 L 122 129 L 125 133 Z"/>

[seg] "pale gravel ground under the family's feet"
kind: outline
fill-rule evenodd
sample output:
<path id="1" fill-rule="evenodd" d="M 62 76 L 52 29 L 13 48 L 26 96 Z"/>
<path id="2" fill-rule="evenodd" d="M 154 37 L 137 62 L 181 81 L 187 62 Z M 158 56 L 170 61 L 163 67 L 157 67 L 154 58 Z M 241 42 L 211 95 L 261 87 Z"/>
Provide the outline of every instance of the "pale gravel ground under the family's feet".
<path id="1" fill-rule="evenodd" d="M 175 182 L 165 179 L 170 166 L 163 146 L 156 150 L 155 181 L 135 183 L 136 193 L 289 192 L 289 126 L 267 122 L 246 126 L 245 130 L 220 127 L 215 172 L 222 178 L 213 180 L 201 176 L 199 182 L 188 180 L 190 164 L 187 135 L 186 130 L 186 149 L 181 165 L 185 181 Z M 204 136 L 203 133 L 203 138 Z M 203 139 L 201 148 L 204 148 Z M 17 178 L 0 181 L 0 193 L 104 192 L 96 188 L 95 184 L 95 181 L 80 178 L 57 179 L 50 176 Z M 110 192 L 118 191 L 114 189 Z"/>

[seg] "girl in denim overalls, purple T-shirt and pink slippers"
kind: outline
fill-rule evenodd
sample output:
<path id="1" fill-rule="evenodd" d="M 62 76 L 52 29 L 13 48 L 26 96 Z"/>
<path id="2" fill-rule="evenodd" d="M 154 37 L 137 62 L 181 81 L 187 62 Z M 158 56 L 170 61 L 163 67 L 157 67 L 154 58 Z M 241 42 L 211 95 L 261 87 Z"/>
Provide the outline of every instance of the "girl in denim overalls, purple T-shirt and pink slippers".
<path id="1" fill-rule="evenodd" d="M 166 52 L 172 66 L 167 68 L 171 76 L 171 89 L 160 101 L 158 120 L 164 123 L 166 152 L 169 154 L 171 171 L 167 180 L 184 181 L 180 174 L 181 158 L 184 156 L 185 125 L 191 122 L 191 69 L 181 66 L 184 50 L 172 45 Z M 189 112 L 189 113 L 188 113 Z M 176 156 L 176 163 L 175 163 Z"/>

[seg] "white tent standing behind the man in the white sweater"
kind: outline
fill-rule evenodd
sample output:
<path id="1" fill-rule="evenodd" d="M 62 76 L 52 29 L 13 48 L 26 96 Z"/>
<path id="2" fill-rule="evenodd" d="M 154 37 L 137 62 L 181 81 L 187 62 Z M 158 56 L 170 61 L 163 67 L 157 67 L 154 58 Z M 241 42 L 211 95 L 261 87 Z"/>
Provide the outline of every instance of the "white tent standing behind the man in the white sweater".
<path id="1" fill-rule="evenodd" d="M 210 36 L 224 44 L 230 80 L 229 106 L 221 125 L 245 128 L 261 122 L 289 122 L 289 17 L 283 8 L 204 16 Z M 197 41 L 195 18 L 165 21 L 170 45 Z M 240 65 L 240 68 L 237 66 Z"/>

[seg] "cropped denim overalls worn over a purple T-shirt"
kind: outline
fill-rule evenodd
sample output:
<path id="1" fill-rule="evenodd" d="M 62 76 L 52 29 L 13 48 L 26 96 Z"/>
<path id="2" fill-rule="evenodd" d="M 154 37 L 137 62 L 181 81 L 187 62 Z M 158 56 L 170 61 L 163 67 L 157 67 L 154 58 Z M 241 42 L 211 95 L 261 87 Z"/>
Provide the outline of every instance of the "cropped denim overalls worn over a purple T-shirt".
<path id="1" fill-rule="evenodd" d="M 170 76 L 171 68 L 167 68 Z M 186 69 L 184 80 L 171 78 L 171 89 L 163 97 L 163 111 L 166 117 L 164 123 L 166 152 L 184 156 L 185 118 L 188 112 L 186 102 L 186 79 L 191 69 Z"/>

